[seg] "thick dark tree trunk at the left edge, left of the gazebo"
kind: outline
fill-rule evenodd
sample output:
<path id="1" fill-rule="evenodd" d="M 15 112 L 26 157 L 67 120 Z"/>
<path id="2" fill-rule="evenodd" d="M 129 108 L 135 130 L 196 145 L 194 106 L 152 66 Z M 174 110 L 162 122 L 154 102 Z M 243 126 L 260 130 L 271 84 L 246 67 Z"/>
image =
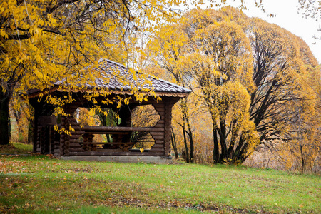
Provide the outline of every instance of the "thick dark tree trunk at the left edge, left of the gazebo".
<path id="1" fill-rule="evenodd" d="M 9 145 L 10 141 L 10 115 L 9 101 L 10 96 L 0 88 L 0 145 Z"/>

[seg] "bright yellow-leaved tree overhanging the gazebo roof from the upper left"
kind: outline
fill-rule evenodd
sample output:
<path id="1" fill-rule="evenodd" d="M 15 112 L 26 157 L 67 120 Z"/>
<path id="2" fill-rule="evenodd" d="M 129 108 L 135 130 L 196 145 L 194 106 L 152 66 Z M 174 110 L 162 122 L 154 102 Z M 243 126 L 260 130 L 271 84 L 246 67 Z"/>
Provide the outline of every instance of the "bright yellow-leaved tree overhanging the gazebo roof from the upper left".
<path id="1" fill-rule="evenodd" d="M 0 144 L 9 143 L 9 101 L 65 78 L 95 76 L 98 58 L 128 63 L 141 17 L 150 27 L 176 14 L 177 1 L 1 1 Z M 90 72 L 88 72 L 90 71 Z M 74 75 L 78 73 L 77 75 Z M 51 99 L 54 102 L 54 98 Z"/>

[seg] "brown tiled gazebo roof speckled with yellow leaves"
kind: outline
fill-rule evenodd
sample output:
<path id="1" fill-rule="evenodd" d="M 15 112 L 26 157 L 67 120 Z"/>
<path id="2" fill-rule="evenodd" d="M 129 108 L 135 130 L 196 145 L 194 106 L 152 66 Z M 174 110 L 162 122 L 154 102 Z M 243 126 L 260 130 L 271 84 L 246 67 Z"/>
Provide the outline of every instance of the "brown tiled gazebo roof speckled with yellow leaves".
<path id="1" fill-rule="evenodd" d="M 88 69 L 88 67 L 86 69 Z M 94 81 L 85 81 L 86 83 L 80 83 L 78 86 L 81 86 L 83 89 L 73 91 L 82 92 L 93 88 L 107 88 L 108 90 L 113 91 L 113 93 L 132 94 L 133 89 L 135 89 L 135 91 L 153 90 L 157 96 L 178 97 L 188 96 L 191 92 L 187 88 L 183 88 L 182 86 L 178 86 L 160 78 L 147 76 L 145 74 L 138 73 L 137 71 L 132 73 L 131 71 L 128 71 L 126 66 L 106 58 L 101 58 L 98 61 L 98 68 L 94 69 L 98 71 L 98 76 L 94 77 Z M 82 76 L 80 79 L 81 78 Z M 80 81 L 80 79 L 78 81 Z M 65 80 L 56 81 L 54 83 L 54 88 L 52 88 L 51 91 L 61 91 L 58 88 L 65 82 Z M 39 93 L 39 90 L 29 91 L 29 98 L 34 97 L 34 93 Z"/>

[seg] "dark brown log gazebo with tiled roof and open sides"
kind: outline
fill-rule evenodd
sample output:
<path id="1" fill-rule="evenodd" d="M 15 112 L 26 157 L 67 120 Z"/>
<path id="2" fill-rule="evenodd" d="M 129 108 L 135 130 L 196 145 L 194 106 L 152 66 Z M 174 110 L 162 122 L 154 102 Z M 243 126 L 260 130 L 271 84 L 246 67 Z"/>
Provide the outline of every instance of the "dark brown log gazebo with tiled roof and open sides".
<path id="1" fill-rule="evenodd" d="M 67 91 L 61 87 L 66 83 L 57 81 L 46 91 L 28 92 L 29 103 L 34 107 L 34 153 L 53 154 L 67 160 L 170 163 L 172 107 L 180 98 L 188 96 L 190 90 L 151 76 L 147 77 L 149 84 L 139 86 L 138 83 L 143 82 L 139 73 L 133 75 L 125 66 L 104 58 L 98 61 L 96 71 L 100 74 L 99 77 L 94 78 L 93 83 L 86 83 L 86 87 L 81 89 Z M 117 75 L 114 75 L 115 71 Z M 146 96 L 144 101 L 137 100 L 133 94 L 133 86 L 136 87 L 135 93 Z M 88 99 L 88 94 L 99 94 L 102 89 L 111 93 L 96 96 L 95 104 L 117 111 L 121 123 L 118 126 L 80 126 L 74 116 L 75 111 L 77 108 L 91 108 L 94 103 Z M 155 94 L 149 95 L 148 89 L 152 89 Z M 63 97 L 66 93 L 71 93 L 73 98 L 71 103 L 63 106 L 68 116 L 53 116 L 56 106 L 49 104 L 46 97 L 49 94 Z M 129 103 L 122 103 L 119 108 L 106 102 L 106 99 L 113 100 L 116 97 L 130 98 Z M 142 105 L 152 105 L 159 114 L 160 119 L 155 126 L 131 126 L 133 109 Z M 59 131 L 56 131 L 57 128 Z M 154 141 L 150 150 L 142 152 L 132 149 L 135 143 L 131 142 L 131 135 L 134 132 L 150 134 Z M 93 142 L 94 134 L 106 134 L 113 140 Z"/>

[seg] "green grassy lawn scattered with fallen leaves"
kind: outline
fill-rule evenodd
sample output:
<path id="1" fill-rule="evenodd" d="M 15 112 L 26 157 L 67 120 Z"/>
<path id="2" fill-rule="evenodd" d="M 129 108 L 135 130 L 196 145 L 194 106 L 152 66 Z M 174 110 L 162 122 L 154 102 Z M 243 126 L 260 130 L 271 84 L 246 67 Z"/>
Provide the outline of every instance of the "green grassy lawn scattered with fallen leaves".
<path id="1" fill-rule="evenodd" d="M 0 156 L 0 183 L 0 213 L 321 213 L 320 177 L 242 166 Z"/>

